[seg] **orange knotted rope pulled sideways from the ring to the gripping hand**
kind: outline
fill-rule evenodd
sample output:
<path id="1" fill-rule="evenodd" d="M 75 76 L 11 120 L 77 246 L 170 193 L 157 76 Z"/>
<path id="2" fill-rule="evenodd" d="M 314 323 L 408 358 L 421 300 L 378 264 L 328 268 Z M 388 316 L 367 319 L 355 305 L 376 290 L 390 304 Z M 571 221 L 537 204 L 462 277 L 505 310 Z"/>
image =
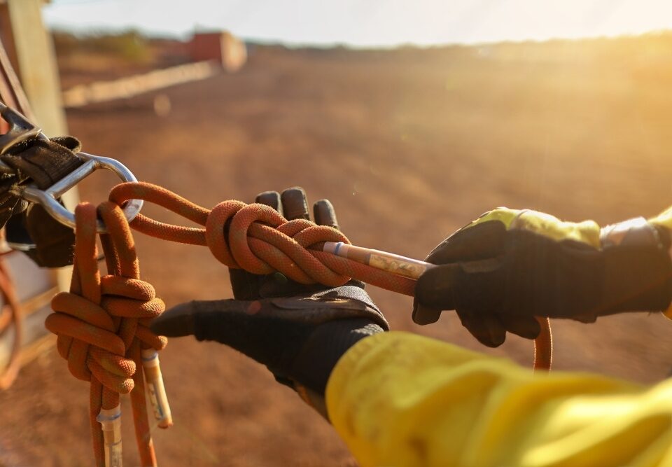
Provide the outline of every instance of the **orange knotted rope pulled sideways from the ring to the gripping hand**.
<path id="1" fill-rule="evenodd" d="M 254 274 L 279 271 L 301 284 L 319 282 L 341 286 L 359 279 L 389 291 L 414 295 L 415 281 L 348 258 L 321 251 L 324 242 L 349 240 L 338 230 L 297 219 L 287 221 L 265 204 L 225 201 L 212 211 L 151 183 L 121 183 L 110 200 L 123 205 L 131 199 L 159 204 L 204 228 L 190 228 L 155 221 L 139 214 L 131 226 L 152 237 L 208 246 L 221 263 Z M 552 342 L 547 319 L 539 319 L 542 333 L 535 340 L 534 368 L 550 368 Z"/>

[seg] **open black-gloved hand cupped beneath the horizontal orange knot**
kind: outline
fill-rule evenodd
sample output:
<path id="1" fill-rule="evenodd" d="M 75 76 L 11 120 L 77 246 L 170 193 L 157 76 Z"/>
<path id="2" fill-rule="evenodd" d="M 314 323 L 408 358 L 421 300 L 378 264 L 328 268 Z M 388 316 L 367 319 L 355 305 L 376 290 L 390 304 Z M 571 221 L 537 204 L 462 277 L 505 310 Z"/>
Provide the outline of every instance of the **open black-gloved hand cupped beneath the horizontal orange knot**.
<path id="1" fill-rule="evenodd" d="M 290 219 L 309 217 L 302 188 L 285 190 L 282 197 L 262 193 L 257 201 Z M 337 225 L 327 200 L 317 202 L 314 211 L 317 223 Z M 279 273 L 255 276 L 238 271 L 231 270 L 233 290 L 246 300 L 183 303 L 156 318 L 152 330 L 227 344 L 266 365 L 279 382 L 319 410 L 338 359 L 360 339 L 389 329 L 363 286 L 353 281 L 335 288 L 304 286 Z"/>

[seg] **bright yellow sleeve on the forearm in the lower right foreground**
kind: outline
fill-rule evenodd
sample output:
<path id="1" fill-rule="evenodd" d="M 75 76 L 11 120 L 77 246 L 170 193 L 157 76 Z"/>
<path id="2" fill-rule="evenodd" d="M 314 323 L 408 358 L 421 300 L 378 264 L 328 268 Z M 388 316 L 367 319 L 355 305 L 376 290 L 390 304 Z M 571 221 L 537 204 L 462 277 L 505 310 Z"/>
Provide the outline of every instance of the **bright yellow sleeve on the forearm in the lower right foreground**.
<path id="1" fill-rule="evenodd" d="M 533 374 L 391 332 L 344 354 L 326 403 L 363 466 L 672 466 L 672 379 Z"/>

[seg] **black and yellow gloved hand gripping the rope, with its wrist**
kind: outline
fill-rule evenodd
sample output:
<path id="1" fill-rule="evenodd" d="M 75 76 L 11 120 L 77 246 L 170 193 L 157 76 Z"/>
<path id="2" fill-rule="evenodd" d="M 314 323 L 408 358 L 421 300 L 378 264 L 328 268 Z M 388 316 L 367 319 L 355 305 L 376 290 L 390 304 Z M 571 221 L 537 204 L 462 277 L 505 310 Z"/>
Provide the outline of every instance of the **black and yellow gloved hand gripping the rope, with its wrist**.
<path id="1" fill-rule="evenodd" d="M 479 342 L 497 347 L 506 331 L 536 337 L 534 316 L 593 322 L 664 310 L 672 299 L 669 248 L 668 230 L 643 218 L 600 229 L 498 208 L 429 254 L 440 266 L 419 278 L 413 319 L 432 323 L 440 310 L 456 309 Z"/>

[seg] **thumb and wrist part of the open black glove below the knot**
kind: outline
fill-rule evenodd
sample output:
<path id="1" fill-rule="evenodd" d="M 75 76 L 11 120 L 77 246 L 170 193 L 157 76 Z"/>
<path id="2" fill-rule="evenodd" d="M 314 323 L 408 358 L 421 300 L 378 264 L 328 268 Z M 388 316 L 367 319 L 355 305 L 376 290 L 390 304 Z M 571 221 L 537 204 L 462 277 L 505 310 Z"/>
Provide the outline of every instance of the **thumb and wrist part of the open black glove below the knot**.
<path id="1" fill-rule="evenodd" d="M 187 302 L 151 324 L 167 337 L 216 340 L 266 365 L 278 382 L 323 396 L 332 368 L 358 340 L 388 330 L 363 289 L 342 286 L 311 295 Z"/>

